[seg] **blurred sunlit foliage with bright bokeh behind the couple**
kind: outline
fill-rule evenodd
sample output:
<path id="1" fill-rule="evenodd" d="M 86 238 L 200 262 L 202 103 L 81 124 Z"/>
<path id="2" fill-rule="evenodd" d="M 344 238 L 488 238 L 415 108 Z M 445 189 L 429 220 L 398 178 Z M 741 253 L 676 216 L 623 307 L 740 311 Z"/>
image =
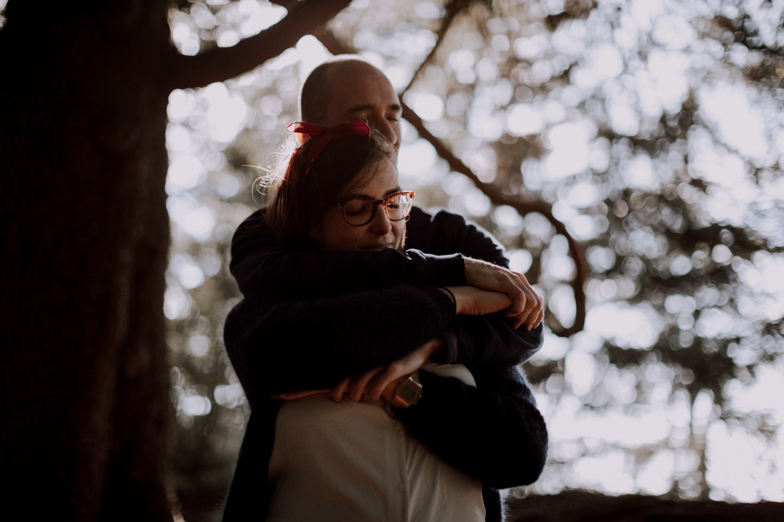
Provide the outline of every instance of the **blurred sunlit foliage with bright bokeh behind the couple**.
<path id="1" fill-rule="evenodd" d="M 194 54 L 281 16 L 256 0 L 180 2 L 172 39 Z M 527 365 L 553 435 L 530 491 L 784 500 L 764 485 L 784 484 L 782 411 L 739 399 L 762 377 L 782 386 L 782 25 L 782 2 L 355 0 L 321 35 L 379 65 L 479 179 L 551 205 L 585 248 L 586 328 L 551 336 Z M 272 163 L 324 56 L 303 38 L 241 78 L 170 98 L 165 311 L 180 491 L 230 477 L 246 408 L 220 343 L 238 299 L 230 237 L 262 204 L 257 166 Z M 552 224 L 492 205 L 410 125 L 404 143 L 401 180 L 418 204 L 490 230 L 551 317 L 573 321 L 575 260 Z M 633 441 L 581 432 L 616 417 L 631 424 L 611 432 L 666 426 Z M 712 446 L 737 433 L 759 448 L 743 454 L 760 463 L 742 487 L 720 476 L 728 465 Z M 597 459 L 621 477 L 592 477 Z"/>

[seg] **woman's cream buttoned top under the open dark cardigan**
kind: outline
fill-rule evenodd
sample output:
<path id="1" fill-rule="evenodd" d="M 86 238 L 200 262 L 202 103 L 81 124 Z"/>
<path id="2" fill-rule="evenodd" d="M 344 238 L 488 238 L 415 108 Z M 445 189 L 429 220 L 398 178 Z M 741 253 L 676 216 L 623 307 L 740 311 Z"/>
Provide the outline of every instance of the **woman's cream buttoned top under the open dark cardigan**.
<path id="1" fill-rule="evenodd" d="M 476 386 L 462 364 L 423 368 Z M 267 522 L 485 520 L 481 482 L 419 444 L 383 401 L 286 401 L 269 480 Z"/>

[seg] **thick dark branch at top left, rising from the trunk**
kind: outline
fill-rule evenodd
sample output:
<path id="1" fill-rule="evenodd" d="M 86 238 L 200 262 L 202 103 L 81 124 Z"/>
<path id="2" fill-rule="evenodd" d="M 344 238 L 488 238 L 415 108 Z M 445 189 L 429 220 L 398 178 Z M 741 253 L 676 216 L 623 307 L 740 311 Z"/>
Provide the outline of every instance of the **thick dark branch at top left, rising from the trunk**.
<path id="1" fill-rule="evenodd" d="M 251 71 L 279 56 L 305 34 L 325 31 L 325 24 L 350 3 L 351 0 L 303 0 L 278 24 L 234 47 L 214 48 L 197 56 L 172 52 L 165 84 L 169 89 L 203 87 Z"/>

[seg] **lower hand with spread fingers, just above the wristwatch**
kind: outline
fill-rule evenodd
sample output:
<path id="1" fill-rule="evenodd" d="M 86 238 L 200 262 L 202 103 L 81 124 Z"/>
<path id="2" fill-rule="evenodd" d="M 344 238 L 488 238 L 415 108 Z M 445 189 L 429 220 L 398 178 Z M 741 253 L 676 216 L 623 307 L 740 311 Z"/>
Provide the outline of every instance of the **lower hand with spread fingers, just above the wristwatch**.
<path id="1" fill-rule="evenodd" d="M 340 382 L 329 390 L 329 395 L 335 402 L 342 401 L 346 395 L 351 401 L 360 401 L 362 397 L 368 397 L 371 401 L 384 397 L 387 401 L 391 401 L 398 383 L 414 370 L 418 370 L 430 356 L 438 353 L 443 347 L 444 341 L 434 337 L 397 361 Z"/>

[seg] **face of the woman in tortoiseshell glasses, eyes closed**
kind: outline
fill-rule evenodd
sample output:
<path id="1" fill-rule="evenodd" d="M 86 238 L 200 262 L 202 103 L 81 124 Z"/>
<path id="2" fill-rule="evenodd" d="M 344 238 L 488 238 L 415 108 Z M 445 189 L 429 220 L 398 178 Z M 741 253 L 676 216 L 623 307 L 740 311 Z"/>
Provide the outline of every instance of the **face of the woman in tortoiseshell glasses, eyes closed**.
<path id="1" fill-rule="evenodd" d="M 340 194 L 339 201 L 361 196 L 383 200 L 401 189 L 397 185 L 397 169 L 391 161 L 383 161 L 373 168 L 375 176 L 368 183 L 357 187 L 350 183 L 347 190 Z M 361 176 L 358 176 L 361 178 Z M 379 252 L 383 248 L 403 249 L 405 241 L 405 219 L 390 221 L 383 205 L 376 206 L 376 215 L 370 223 L 354 227 L 343 218 L 343 207 L 333 205 L 327 210 L 321 230 L 312 233 L 323 250 L 346 250 L 351 252 Z"/>

